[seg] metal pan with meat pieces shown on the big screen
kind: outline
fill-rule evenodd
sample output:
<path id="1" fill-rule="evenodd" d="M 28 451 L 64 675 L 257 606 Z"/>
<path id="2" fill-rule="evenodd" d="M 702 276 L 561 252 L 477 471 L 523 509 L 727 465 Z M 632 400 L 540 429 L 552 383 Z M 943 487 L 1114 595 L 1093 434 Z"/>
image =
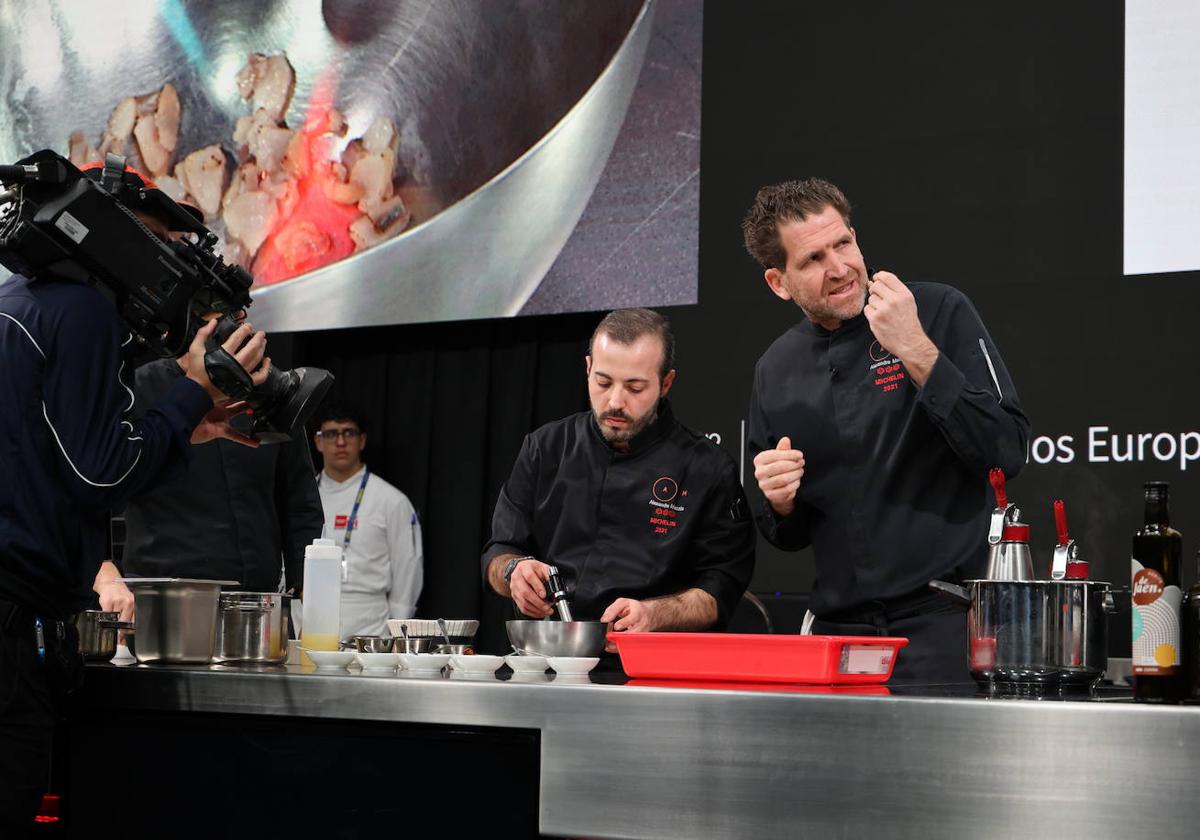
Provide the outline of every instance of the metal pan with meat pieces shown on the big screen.
<path id="1" fill-rule="evenodd" d="M 612 150 L 654 0 L 29 0 L 0 161 L 127 154 L 268 330 L 512 314 Z"/>

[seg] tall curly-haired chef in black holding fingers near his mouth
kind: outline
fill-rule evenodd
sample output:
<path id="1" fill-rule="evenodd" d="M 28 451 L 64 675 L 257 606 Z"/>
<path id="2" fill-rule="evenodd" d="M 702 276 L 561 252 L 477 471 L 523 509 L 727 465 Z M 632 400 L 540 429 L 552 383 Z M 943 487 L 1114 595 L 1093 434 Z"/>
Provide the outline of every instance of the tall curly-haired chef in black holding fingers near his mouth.
<path id="1" fill-rule="evenodd" d="M 983 575 L 988 470 L 1025 462 L 1030 421 L 991 336 L 956 289 L 869 278 L 827 181 L 763 187 L 743 233 L 808 316 L 755 368 L 760 529 L 812 546 L 814 632 L 907 636 L 898 679 L 968 679 L 965 616 L 928 583 Z"/>

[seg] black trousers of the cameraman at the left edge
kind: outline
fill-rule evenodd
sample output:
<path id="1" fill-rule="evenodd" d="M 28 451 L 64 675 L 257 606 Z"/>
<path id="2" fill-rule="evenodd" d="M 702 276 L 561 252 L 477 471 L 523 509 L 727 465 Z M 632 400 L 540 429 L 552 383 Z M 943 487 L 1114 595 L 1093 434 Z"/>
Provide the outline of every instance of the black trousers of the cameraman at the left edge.
<path id="1" fill-rule="evenodd" d="M 23 838 L 46 792 L 54 724 L 82 678 L 70 624 L 46 622 L 38 654 L 35 614 L 0 601 L 0 838 Z"/>

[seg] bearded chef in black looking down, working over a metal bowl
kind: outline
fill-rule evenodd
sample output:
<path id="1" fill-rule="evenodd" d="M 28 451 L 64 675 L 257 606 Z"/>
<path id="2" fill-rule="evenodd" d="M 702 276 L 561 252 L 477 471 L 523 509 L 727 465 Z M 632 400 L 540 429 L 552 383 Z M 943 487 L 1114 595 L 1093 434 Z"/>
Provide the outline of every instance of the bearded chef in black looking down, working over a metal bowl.
<path id="1" fill-rule="evenodd" d="M 733 460 L 680 425 L 666 318 L 618 310 L 587 356 L 592 410 L 528 434 L 492 517 L 487 584 L 544 618 L 550 565 L 577 620 L 703 630 L 728 620 L 754 571 Z M 611 648 L 610 648 L 611 649 Z"/>

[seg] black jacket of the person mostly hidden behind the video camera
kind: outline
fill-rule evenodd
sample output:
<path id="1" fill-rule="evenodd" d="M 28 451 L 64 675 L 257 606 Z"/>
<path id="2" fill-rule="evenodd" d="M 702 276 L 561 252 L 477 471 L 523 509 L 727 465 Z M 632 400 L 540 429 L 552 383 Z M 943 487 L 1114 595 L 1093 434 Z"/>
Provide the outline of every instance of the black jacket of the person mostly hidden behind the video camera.
<path id="1" fill-rule="evenodd" d="M 182 377 L 173 359 L 139 367 L 134 413 Z M 245 420 L 239 415 L 233 422 Z M 257 449 L 232 440 L 196 446 L 186 475 L 126 505 L 122 570 L 276 592 L 282 557 L 288 588 L 300 589 L 305 546 L 320 536 L 324 522 L 314 473 L 302 433 Z"/>

